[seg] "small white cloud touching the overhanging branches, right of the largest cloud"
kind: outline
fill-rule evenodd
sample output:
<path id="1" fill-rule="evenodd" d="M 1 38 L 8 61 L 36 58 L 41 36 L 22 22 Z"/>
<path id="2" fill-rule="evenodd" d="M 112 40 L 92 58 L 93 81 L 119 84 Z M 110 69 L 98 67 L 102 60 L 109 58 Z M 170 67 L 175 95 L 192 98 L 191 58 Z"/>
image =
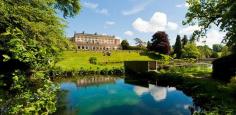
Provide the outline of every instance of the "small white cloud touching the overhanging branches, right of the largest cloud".
<path id="1" fill-rule="evenodd" d="M 179 33 L 181 35 L 192 35 L 195 30 L 200 30 L 200 29 L 201 29 L 201 27 L 199 27 L 198 25 L 188 26 L 186 28 L 182 28 L 179 31 Z"/>

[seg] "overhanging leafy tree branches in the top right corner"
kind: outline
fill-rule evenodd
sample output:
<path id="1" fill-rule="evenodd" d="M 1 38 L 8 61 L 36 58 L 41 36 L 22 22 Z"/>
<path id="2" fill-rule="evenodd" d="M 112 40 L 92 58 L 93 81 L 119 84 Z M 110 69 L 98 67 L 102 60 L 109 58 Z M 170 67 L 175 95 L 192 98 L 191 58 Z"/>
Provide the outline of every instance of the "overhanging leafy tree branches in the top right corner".
<path id="1" fill-rule="evenodd" d="M 236 1 L 235 0 L 187 0 L 189 4 L 183 24 L 198 24 L 202 29 L 194 36 L 206 35 L 207 30 L 216 25 L 225 31 L 224 42 L 236 52 Z"/>

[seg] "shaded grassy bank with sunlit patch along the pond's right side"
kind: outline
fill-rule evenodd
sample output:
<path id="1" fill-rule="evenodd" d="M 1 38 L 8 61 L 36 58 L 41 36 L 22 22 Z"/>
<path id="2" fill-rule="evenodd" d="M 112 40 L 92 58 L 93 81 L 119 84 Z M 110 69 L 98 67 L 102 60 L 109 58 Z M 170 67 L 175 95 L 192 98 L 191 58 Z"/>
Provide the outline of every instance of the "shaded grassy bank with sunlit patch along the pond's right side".
<path id="1" fill-rule="evenodd" d="M 158 85 L 176 87 L 191 96 L 201 107 L 201 111 L 193 111 L 196 115 L 234 115 L 236 112 L 235 78 L 229 84 L 211 79 L 209 65 L 172 67 L 159 74 L 149 73 L 144 78 L 146 76 L 159 81 Z"/>

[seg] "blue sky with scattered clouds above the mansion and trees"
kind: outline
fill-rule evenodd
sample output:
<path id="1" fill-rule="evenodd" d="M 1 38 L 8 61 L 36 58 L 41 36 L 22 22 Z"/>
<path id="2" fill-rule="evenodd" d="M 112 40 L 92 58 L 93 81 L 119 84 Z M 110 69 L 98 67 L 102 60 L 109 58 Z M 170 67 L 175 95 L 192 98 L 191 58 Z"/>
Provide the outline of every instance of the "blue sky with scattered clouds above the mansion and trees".
<path id="1" fill-rule="evenodd" d="M 188 4 L 185 0 L 81 0 L 82 10 L 66 19 L 66 35 L 74 32 L 115 35 L 134 44 L 134 38 L 148 41 L 156 31 L 166 31 L 170 43 L 176 35 L 191 35 L 198 26 L 182 26 Z M 224 33 L 212 29 L 208 45 L 220 43 Z M 199 42 L 201 44 L 201 42 Z"/>

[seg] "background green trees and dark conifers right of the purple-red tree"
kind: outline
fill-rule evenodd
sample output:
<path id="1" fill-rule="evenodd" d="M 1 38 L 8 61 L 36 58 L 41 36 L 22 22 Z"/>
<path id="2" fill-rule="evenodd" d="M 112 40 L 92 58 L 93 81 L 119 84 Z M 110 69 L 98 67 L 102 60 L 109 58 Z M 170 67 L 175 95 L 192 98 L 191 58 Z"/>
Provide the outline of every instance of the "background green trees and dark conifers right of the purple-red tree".
<path id="1" fill-rule="evenodd" d="M 193 38 L 188 39 L 184 35 L 181 39 L 180 35 L 177 35 L 176 42 L 173 45 L 173 52 L 171 54 L 174 58 L 220 58 L 230 55 L 230 50 L 227 46 L 221 44 L 214 44 L 212 48 L 208 45 L 197 46 Z"/>

